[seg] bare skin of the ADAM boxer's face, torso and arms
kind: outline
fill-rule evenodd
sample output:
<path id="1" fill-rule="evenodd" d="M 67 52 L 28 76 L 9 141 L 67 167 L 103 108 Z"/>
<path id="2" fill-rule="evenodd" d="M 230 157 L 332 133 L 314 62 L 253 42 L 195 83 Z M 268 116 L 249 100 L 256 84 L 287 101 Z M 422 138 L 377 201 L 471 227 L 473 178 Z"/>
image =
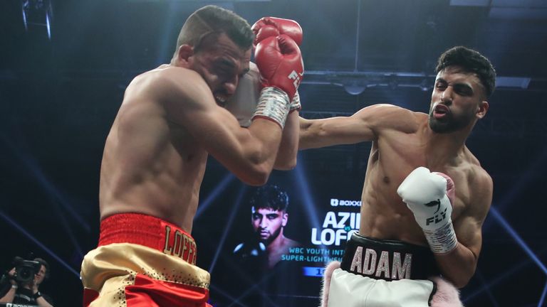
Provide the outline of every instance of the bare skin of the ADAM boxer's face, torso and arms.
<path id="1" fill-rule="evenodd" d="M 438 104 L 440 104 L 438 106 Z M 458 246 L 435 254 L 442 274 L 463 287 L 481 251 L 481 226 L 490 208 L 492 181 L 465 146 L 488 110 L 484 87 L 474 74 L 448 67 L 437 75 L 430 115 L 388 104 L 365 107 L 351 117 L 301 119 L 300 149 L 372 141 L 363 185 L 359 232 L 427 246 L 422 229 L 396 190 L 418 166 L 446 173 L 455 185 L 452 222 Z M 444 129 L 437 133 L 429 126 Z"/>

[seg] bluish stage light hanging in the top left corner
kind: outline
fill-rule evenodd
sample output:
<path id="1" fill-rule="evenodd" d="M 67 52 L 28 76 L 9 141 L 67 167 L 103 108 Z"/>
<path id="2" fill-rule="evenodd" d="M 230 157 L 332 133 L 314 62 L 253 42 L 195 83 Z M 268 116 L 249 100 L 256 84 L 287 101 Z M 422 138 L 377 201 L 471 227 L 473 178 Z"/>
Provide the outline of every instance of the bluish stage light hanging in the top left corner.
<path id="1" fill-rule="evenodd" d="M 21 0 L 21 14 L 27 33 L 37 33 L 51 40 L 53 10 L 50 0 Z"/>

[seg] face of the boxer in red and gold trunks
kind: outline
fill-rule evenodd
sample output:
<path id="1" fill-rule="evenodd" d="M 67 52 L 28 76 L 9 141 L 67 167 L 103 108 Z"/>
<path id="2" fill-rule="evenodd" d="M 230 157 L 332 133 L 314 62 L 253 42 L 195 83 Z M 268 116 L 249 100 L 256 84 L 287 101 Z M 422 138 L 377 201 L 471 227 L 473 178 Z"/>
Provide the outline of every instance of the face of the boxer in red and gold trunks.
<path id="1" fill-rule="evenodd" d="M 192 70 L 202 75 L 217 104 L 224 107 L 236 92 L 239 78 L 249 71 L 251 50 L 243 50 L 226 34 L 206 36 L 189 58 Z"/>

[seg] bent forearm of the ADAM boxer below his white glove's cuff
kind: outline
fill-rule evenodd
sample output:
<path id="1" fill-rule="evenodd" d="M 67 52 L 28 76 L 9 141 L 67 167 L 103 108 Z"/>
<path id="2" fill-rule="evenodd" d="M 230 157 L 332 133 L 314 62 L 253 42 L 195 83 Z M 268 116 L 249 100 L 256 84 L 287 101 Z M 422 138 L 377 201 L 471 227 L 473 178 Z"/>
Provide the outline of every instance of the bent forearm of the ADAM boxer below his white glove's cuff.
<path id="1" fill-rule="evenodd" d="M 435 254 L 441 274 L 457 288 L 463 288 L 476 269 L 476 257 L 470 249 L 459 243 L 447 254 Z"/>

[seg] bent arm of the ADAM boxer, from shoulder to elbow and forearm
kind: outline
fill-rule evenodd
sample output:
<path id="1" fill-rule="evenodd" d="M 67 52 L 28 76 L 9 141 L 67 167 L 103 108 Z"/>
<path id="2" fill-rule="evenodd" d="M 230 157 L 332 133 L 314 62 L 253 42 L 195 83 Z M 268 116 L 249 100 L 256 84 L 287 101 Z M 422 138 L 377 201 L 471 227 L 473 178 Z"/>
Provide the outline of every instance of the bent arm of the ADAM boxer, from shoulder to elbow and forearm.
<path id="1" fill-rule="evenodd" d="M 481 228 L 492 201 L 492 180 L 486 172 L 482 171 L 472 186 L 472 203 L 454 220 L 457 248 L 449 254 L 435 255 L 442 274 L 458 288 L 465 286 L 475 272 L 482 245 Z"/>

